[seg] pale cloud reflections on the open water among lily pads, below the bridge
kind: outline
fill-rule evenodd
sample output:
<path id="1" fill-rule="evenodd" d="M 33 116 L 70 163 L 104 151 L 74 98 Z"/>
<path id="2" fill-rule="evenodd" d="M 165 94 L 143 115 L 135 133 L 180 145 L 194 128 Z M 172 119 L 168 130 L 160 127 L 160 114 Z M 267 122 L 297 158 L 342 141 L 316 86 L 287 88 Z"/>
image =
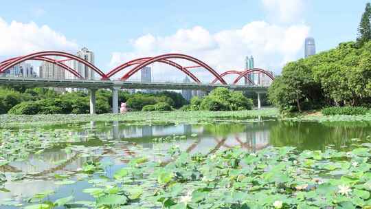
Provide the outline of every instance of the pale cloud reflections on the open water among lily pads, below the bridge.
<path id="1" fill-rule="evenodd" d="M 93 124 L 96 125 L 95 123 Z M 86 138 L 91 134 L 91 130 L 99 136 L 100 140 L 105 140 L 112 137 L 113 135 L 124 136 L 131 138 L 133 142 L 137 142 L 137 146 L 133 143 L 124 142 L 113 142 L 110 148 L 104 148 L 105 159 L 109 159 L 115 166 L 124 166 L 133 157 L 148 157 L 148 159 L 155 162 L 166 162 L 170 159 L 168 155 L 158 155 L 159 153 L 166 154 L 168 149 L 174 145 L 179 146 L 182 151 L 188 151 L 190 154 L 203 153 L 207 154 L 210 151 L 214 152 L 218 149 L 225 149 L 231 146 L 241 146 L 243 148 L 250 149 L 255 144 L 256 147 L 264 146 L 269 143 L 269 129 L 259 124 L 254 124 L 253 127 L 246 126 L 245 131 L 230 131 L 232 133 L 227 134 L 225 137 L 216 138 L 213 134 L 206 133 L 204 126 L 197 125 L 155 125 L 155 126 L 120 126 L 120 122 L 113 123 L 113 126 L 109 127 L 108 131 L 99 131 L 99 129 L 91 129 L 86 126 L 84 131 L 71 132 L 77 134 L 82 138 Z M 232 130 L 232 129 L 231 129 Z M 238 132 L 238 133 L 233 133 Z M 195 137 L 191 137 L 191 133 L 197 133 Z M 166 137 L 172 135 L 188 135 L 184 140 L 177 140 L 177 142 L 165 142 L 165 143 L 153 143 L 154 137 Z M 145 136 L 145 137 L 144 137 Z M 143 137 L 145 139 L 143 139 Z M 95 143 L 95 141 L 93 142 Z M 102 144 L 100 144 L 102 145 Z M 85 149 L 94 150 L 96 146 L 91 144 L 89 141 L 86 142 L 85 148 L 82 150 L 84 153 Z M 91 150 L 91 151 L 92 151 Z M 98 151 L 99 149 L 97 149 Z M 89 152 L 88 152 L 89 153 Z M 101 153 L 101 151 L 100 151 Z M 24 173 L 43 173 L 48 174 L 47 170 L 51 170 L 50 173 L 65 173 L 68 171 L 75 172 L 78 168 L 87 162 L 87 157 L 76 157 L 76 151 L 66 153 L 63 150 L 46 150 L 39 155 L 30 155 L 28 160 L 23 162 L 12 162 L 10 166 L 22 170 Z M 68 164 L 58 167 L 56 162 L 68 161 Z M 46 171 L 45 171 L 46 170 Z M 32 197 L 32 195 L 43 192 L 45 190 L 56 190 L 58 187 L 53 184 L 53 180 L 25 180 L 19 182 L 7 182 L 5 188 L 11 190 L 8 193 L 0 193 L 0 199 L 12 197 L 16 195 L 16 200 L 21 200 L 25 197 Z M 73 187 L 74 185 L 71 185 Z M 27 190 L 25 190 L 27 188 Z"/>

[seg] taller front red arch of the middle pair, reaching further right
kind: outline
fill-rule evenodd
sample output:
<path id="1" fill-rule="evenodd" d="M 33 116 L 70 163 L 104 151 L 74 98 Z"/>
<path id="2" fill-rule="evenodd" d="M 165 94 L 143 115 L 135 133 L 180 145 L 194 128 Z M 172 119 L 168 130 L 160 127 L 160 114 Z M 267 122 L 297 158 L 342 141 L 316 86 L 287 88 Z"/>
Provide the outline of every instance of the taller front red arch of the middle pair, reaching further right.
<path id="1" fill-rule="evenodd" d="M 137 65 L 137 67 L 134 67 L 133 69 L 131 69 L 129 72 L 124 74 L 124 76 L 122 76 L 121 79 L 122 80 L 127 80 L 128 78 L 133 76 L 133 74 L 138 72 L 143 67 L 146 67 L 147 65 L 150 65 L 150 64 L 155 63 L 157 61 L 161 61 L 161 60 L 169 59 L 169 58 L 181 58 L 181 59 L 196 63 L 197 65 L 200 65 L 201 67 L 204 67 L 205 69 L 207 69 L 207 71 L 212 73 L 218 80 L 221 81 L 222 84 L 224 84 L 224 85 L 227 84 L 225 82 L 225 80 L 214 69 L 212 69 L 209 65 L 206 65 L 205 63 L 203 63 L 203 61 L 200 61 L 197 58 L 194 58 L 192 56 L 188 56 L 188 55 L 185 55 L 185 54 L 163 54 L 163 55 L 160 55 L 160 56 L 155 56 L 153 58 L 148 59 L 148 61 L 145 61 L 145 62 Z"/>

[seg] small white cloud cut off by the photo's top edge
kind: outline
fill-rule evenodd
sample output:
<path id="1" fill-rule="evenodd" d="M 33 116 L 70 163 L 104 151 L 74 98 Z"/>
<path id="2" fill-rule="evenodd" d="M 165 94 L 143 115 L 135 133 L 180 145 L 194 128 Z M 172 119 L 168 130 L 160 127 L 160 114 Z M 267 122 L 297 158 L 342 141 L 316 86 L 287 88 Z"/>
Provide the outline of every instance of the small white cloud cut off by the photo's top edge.
<path id="1" fill-rule="evenodd" d="M 304 8 L 304 0 L 262 0 L 269 17 L 284 23 L 297 21 Z"/>

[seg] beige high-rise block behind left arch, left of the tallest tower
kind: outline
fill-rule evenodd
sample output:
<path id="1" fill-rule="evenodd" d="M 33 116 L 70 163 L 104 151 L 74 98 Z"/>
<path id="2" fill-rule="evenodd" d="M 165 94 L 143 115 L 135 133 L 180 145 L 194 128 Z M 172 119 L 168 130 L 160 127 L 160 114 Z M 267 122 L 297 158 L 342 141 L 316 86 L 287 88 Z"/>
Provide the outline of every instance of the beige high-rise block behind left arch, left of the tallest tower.
<path id="1" fill-rule="evenodd" d="M 53 63 L 43 62 L 41 63 L 39 69 L 39 76 L 40 78 L 52 78 L 52 79 L 65 79 L 66 73 L 65 69 L 59 67 L 58 65 L 54 65 Z M 59 93 L 63 93 L 66 91 L 65 88 L 52 88 Z"/>

